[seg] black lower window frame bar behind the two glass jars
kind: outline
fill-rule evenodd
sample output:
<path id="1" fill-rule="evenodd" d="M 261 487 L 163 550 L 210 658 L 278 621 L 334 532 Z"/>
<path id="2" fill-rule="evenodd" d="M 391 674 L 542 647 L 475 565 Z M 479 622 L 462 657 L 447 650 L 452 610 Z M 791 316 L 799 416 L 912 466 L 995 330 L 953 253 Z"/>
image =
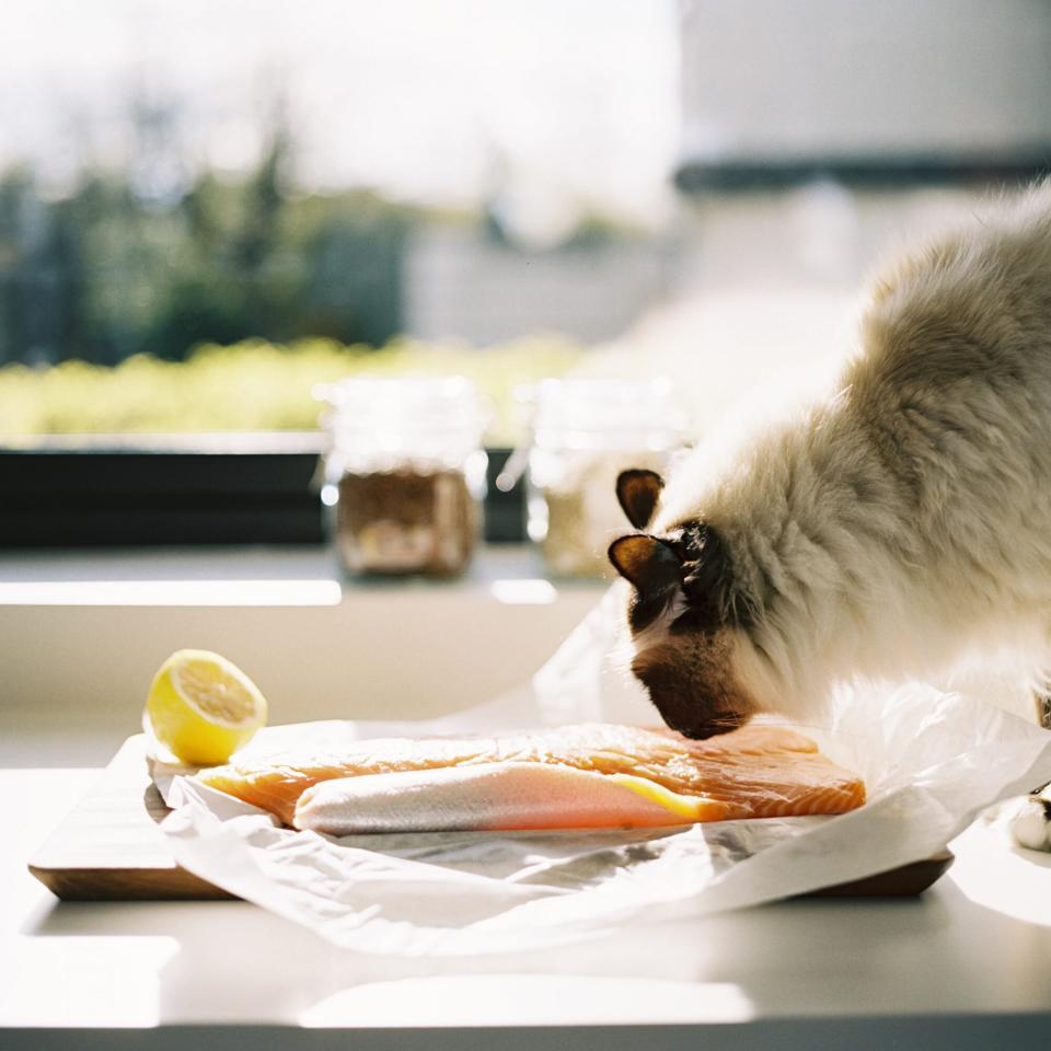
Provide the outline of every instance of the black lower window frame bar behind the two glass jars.
<path id="1" fill-rule="evenodd" d="M 320 544 L 316 434 L 48 437 L 0 449 L 0 548 Z M 493 484 L 485 539 L 526 539 L 524 495 Z"/>

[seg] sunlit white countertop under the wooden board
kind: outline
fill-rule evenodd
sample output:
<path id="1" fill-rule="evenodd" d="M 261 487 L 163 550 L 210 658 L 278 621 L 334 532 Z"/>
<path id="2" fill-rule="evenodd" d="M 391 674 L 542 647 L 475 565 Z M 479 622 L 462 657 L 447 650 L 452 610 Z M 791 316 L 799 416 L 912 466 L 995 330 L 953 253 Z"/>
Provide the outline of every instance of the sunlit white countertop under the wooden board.
<path id="1" fill-rule="evenodd" d="M 0 859 L 4 1051 L 118 1046 L 111 1030 L 185 1047 L 188 1025 L 208 1048 L 431 1051 L 1025 1048 L 1051 1033 L 1051 857 L 978 828 L 919 899 L 785 902 L 518 957 L 379 959 L 241 902 L 56 901 L 26 859 L 96 774 L 0 771 L 18 815 Z"/>

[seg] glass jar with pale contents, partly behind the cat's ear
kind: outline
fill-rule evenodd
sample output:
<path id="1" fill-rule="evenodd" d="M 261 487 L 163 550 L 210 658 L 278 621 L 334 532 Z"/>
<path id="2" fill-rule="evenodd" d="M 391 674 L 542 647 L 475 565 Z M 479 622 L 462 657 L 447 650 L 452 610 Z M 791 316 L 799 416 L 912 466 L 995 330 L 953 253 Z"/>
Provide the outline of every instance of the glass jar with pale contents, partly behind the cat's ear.
<path id="1" fill-rule="evenodd" d="M 529 535 L 555 576 L 612 576 L 610 543 L 631 527 L 616 499 L 628 467 L 663 474 L 684 447 L 668 380 L 545 380 L 529 454 Z"/>

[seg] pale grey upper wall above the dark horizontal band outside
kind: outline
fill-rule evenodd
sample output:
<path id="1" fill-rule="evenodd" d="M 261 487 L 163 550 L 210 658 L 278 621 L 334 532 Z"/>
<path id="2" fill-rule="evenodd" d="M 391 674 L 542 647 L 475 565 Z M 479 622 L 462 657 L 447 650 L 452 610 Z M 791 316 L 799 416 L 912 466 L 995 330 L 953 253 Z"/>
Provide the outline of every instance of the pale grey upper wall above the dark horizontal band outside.
<path id="1" fill-rule="evenodd" d="M 1051 143 L 1044 0 L 693 0 L 682 56 L 692 159 Z"/>

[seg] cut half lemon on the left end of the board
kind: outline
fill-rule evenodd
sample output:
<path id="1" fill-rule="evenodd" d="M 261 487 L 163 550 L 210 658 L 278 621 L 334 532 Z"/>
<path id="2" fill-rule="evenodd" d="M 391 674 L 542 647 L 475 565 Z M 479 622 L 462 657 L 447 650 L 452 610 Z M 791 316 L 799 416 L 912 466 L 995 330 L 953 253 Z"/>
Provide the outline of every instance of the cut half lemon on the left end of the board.
<path id="1" fill-rule="evenodd" d="M 161 665 L 146 701 L 157 739 L 194 766 L 224 763 L 266 725 L 266 698 L 231 660 L 180 649 Z"/>

